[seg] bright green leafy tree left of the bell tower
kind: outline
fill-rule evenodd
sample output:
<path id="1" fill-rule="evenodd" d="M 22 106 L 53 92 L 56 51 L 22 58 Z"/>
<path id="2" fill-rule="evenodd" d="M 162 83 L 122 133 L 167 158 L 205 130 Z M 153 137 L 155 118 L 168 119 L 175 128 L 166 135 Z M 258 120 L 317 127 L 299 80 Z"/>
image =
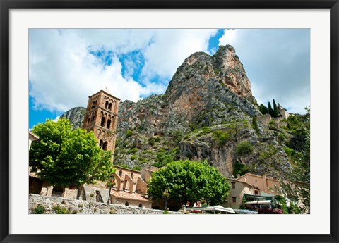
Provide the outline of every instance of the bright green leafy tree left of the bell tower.
<path id="1" fill-rule="evenodd" d="M 66 118 L 47 120 L 33 128 L 40 139 L 30 148 L 30 166 L 41 180 L 76 187 L 79 199 L 85 183 L 107 182 L 115 169 L 110 151 L 97 147 L 93 132 L 72 130 Z"/>

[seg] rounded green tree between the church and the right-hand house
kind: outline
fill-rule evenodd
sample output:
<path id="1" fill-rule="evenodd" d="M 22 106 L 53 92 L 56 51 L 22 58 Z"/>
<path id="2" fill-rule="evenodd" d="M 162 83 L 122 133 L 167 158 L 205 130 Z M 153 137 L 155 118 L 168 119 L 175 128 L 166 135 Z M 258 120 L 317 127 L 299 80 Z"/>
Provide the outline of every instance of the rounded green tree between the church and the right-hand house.
<path id="1" fill-rule="evenodd" d="M 202 198 L 217 205 L 227 198 L 230 185 L 226 178 L 206 161 L 185 160 L 168 163 L 166 168 L 153 173 L 148 185 L 148 194 L 153 199 L 162 199 L 165 190 L 178 205 Z"/>

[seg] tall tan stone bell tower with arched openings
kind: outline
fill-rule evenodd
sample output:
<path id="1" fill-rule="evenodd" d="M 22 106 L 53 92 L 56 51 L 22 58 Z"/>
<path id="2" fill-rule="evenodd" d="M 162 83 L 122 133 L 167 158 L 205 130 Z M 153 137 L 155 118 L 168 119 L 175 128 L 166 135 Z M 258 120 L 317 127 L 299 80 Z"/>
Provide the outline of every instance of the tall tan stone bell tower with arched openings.
<path id="1" fill-rule="evenodd" d="M 88 97 L 88 105 L 83 119 L 83 129 L 93 131 L 97 145 L 103 150 L 112 151 L 114 155 L 117 137 L 119 101 L 107 88 Z"/>

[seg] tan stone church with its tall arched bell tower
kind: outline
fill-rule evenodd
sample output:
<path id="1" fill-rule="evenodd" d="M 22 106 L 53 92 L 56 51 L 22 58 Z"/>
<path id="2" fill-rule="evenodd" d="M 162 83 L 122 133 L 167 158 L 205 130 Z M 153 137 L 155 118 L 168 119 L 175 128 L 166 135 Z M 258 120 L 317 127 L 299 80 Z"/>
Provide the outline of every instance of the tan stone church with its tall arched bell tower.
<path id="1" fill-rule="evenodd" d="M 100 90 L 88 97 L 88 106 L 83 120 L 83 129 L 93 131 L 97 138 L 97 145 L 103 150 L 111 151 L 112 160 L 117 138 L 117 113 L 119 101 L 107 89 Z M 30 144 L 38 137 L 29 132 Z M 120 166 L 115 166 L 115 185 L 110 191 L 111 203 L 126 206 L 151 208 L 151 201 L 147 195 L 147 183 L 151 172 L 155 168 L 146 169 L 143 173 Z M 53 187 L 48 182 L 40 180 L 34 173 L 29 173 L 29 192 L 44 196 L 65 197 L 76 199 L 77 190 Z M 95 185 L 84 185 L 81 199 L 87 201 L 109 201 L 109 189 L 102 182 Z"/>

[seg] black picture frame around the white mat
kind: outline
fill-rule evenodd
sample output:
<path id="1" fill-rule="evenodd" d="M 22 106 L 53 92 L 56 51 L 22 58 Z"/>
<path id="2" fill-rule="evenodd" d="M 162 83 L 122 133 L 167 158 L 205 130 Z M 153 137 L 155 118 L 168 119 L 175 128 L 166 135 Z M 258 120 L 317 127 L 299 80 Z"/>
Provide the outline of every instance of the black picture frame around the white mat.
<path id="1" fill-rule="evenodd" d="M 0 0 L 1 242 L 338 242 L 338 0 Z M 9 11 L 11 9 L 329 9 L 331 15 L 331 222 L 328 235 L 12 235 L 9 234 Z M 319 222 L 321 223 L 321 222 Z"/>

